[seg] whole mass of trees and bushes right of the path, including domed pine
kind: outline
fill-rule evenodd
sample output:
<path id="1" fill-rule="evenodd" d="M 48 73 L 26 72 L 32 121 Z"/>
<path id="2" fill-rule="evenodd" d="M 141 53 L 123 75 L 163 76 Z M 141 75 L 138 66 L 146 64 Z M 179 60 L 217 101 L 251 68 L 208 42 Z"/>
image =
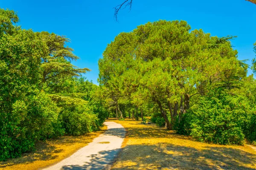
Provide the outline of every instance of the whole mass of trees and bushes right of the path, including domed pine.
<path id="1" fill-rule="evenodd" d="M 123 112 L 151 115 L 157 125 L 202 142 L 256 141 L 256 81 L 247 77 L 233 38 L 165 20 L 120 33 L 99 60 L 109 108 L 121 119 Z"/>

